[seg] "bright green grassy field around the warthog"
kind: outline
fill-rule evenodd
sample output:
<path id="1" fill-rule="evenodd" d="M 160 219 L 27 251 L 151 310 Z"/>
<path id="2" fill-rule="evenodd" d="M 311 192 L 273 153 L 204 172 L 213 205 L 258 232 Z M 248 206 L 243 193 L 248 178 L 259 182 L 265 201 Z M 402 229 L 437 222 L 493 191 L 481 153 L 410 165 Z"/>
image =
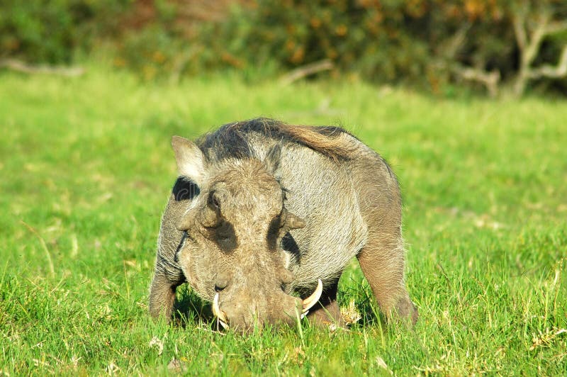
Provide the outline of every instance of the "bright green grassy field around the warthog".
<path id="1" fill-rule="evenodd" d="M 391 162 L 415 331 L 376 317 L 354 261 L 349 330 L 214 332 L 188 288 L 186 320 L 150 320 L 170 137 L 256 116 L 342 125 Z M 0 130 L 0 375 L 567 374 L 565 101 L 2 72 Z"/>

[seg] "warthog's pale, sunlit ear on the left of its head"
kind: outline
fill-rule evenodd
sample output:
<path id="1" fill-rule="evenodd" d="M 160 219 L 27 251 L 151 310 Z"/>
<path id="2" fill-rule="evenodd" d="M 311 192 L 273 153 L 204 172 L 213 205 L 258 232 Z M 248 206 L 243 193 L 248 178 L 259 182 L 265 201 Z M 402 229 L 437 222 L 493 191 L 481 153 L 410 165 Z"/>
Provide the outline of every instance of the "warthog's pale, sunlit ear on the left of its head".
<path id="1" fill-rule="evenodd" d="M 205 156 L 203 152 L 195 143 L 181 136 L 172 137 L 172 147 L 179 174 L 189 177 L 197 186 L 201 186 L 205 177 Z"/>

